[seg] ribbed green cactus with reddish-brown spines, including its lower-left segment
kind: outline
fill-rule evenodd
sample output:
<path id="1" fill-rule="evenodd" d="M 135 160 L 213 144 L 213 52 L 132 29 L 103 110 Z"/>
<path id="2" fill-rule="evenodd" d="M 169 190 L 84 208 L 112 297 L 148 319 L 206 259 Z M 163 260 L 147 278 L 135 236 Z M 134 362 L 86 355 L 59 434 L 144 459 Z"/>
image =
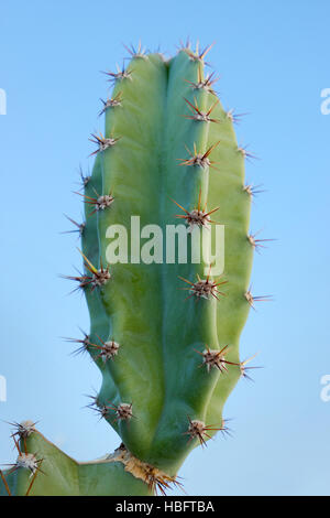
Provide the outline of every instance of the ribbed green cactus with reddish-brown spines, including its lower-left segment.
<path id="1" fill-rule="evenodd" d="M 229 432 L 223 406 L 249 368 L 239 357 L 240 334 L 263 298 L 249 289 L 260 241 L 249 235 L 255 188 L 244 184 L 244 162 L 251 155 L 235 139 L 239 116 L 222 108 L 217 78 L 205 73 L 208 50 L 183 45 L 165 61 L 139 46 L 130 48 L 127 68 L 106 72 L 114 87 L 102 101 L 105 136 L 90 139 L 95 166 L 78 193 L 86 219 L 73 223 L 84 272 L 68 278 L 84 291 L 91 324 L 77 338 L 77 352 L 88 353 L 102 374 L 90 407 L 122 443 L 102 460 L 79 464 L 34 423 L 16 424 L 18 462 L 0 473 L 1 494 L 165 492 L 178 484 L 194 447 Z M 226 251 L 219 276 L 221 250 L 212 256 L 211 249 L 217 224 L 224 226 Z M 110 239 L 113 228 L 116 236 L 129 229 L 128 242 Z M 179 252 L 176 229 L 187 240 L 187 260 L 170 256 Z M 193 260 L 200 242 L 200 259 Z M 116 250 L 128 251 L 127 261 L 109 260 Z"/>

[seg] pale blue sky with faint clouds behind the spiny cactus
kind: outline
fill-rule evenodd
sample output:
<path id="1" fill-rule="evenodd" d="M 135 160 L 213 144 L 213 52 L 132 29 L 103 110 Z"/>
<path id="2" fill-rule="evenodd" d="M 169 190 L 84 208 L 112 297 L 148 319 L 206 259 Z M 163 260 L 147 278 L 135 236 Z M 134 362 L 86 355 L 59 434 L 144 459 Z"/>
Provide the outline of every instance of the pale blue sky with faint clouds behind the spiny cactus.
<path id="1" fill-rule="evenodd" d="M 61 336 L 88 328 L 82 298 L 58 274 L 79 262 L 63 213 L 79 218 L 73 194 L 79 163 L 91 166 L 90 132 L 107 95 L 100 71 L 121 64 L 122 43 L 176 51 L 189 35 L 216 41 L 209 61 L 227 108 L 248 111 L 239 140 L 261 160 L 250 182 L 265 193 L 251 228 L 277 238 L 255 257 L 253 289 L 274 302 L 251 312 L 242 357 L 260 352 L 255 384 L 242 380 L 226 417 L 232 439 L 196 450 L 180 476 L 190 495 L 329 495 L 330 401 L 320 379 L 329 355 L 329 136 L 321 90 L 330 88 L 327 0 L 34 0 L 0 8 L 1 345 L 8 401 L 0 419 L 41 420 L 68 454 L 90 460 L 118 439 L 88 410 L 100 385 L 87 358 L 68 356 Z M 0 461 L 13 458 L 0 422 Z"/>

